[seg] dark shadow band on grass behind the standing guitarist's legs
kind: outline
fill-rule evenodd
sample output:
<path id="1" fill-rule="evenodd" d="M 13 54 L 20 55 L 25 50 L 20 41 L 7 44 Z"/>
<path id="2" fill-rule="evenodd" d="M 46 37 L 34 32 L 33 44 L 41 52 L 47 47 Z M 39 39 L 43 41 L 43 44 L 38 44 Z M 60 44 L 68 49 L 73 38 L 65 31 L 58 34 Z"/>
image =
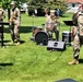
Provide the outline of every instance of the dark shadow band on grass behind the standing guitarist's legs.
<path id="1" fill-rule="evenodd" d="M 20 33 L 31 33 L 33 26 L 20 26 Z M 9 27 L 4 27 L 4 33 L 10 33 Z"/>

